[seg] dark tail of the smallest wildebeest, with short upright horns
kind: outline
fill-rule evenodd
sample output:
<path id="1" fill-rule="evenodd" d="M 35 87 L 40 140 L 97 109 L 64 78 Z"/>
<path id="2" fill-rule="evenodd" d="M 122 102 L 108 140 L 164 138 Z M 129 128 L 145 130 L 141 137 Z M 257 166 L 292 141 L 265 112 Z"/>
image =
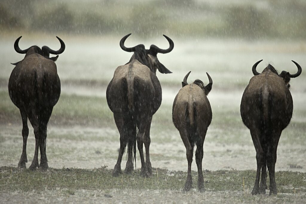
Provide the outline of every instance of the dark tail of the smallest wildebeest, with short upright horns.
<path id="1" fill-rule="evenodd" d="M 185 108 L 185 121 L 186 121 L 186 126 L 187 126 L 187 132 L 188 132 L 188 139 L 189 142 L 192 146 L 198 145 L 200 142 L 199 134 L 197 132 L 197 109 L 196 109 L 196 104 L 193 102 L 192 104 L 186 103 L 186 108 Z"/>

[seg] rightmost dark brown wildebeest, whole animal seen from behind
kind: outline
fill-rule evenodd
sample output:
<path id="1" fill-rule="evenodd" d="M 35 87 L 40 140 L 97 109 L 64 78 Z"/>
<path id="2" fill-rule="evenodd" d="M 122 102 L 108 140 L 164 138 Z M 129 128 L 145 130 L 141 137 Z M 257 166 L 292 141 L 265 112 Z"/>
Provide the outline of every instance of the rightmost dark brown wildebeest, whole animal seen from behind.
<path id="1" fill-rule="evenodd" d="M 302 68 L 295 61 L 297 73 L 282 71 L 280 74 L 272 65 L 268 65 L 262 73 L 253 65 L 253 76 L 245 88 L 241 99 L 240 113 L 243 123 L 250 129 L 256 149 L 257 172 L 252 195 L 266 193 L 267 167 L 270 178 L 270 195 L 277 194 L 275 183 L 275 163 L 278 140 L 282 130 L 289 124 L 293 101 L 289 91 L 290 78 L 299 76 Z M 261 169 L 261 181 L 259 177 Z"/>

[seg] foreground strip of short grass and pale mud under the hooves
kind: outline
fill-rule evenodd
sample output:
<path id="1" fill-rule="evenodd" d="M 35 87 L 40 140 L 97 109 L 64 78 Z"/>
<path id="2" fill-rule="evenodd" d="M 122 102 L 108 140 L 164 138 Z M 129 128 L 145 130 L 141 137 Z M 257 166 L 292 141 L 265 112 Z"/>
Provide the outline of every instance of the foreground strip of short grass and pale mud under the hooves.
<path id="1" fill-rule="evenodd" d="M 195 197 L 197 198 L 196 202 L 202 202 L 203 198 L 209 202 L 270 203 L 306 201 L 306 173 L 277 172 L 276 182 L 279 193 L 277 196 L 269 197 L 250 195 L 255 176 L 254 170 L 207 170 L 204 172 L 206 192 L 200 193 L 196 190 L 197 172 L 192 171 L 192 190 L 183 192 L 181 189 L 185 184 L 186 172 L 153 169 L 154 172 L 151 177 L 143 178 L 140 176 L 139 170 L 132 172 L 130 175 L 122 174 L 118 177 L 113 177 L 111 175 L 112 171 L 105 167 L 92 170 L 65 167 L 62 169 L 50 168 L 46 172 L 1 167 L 0 192 L 2 192 L 2 195 L 12 192 L 26 195 L 35 192 L 35 196 L 45 196 L 53 192 L 59 197 L 74 201 L 78 201 L 80 195 L 86 192 L 86 195 L 89 196 L 88 202 L 90 200 L 96 202 L 96 197 L 100 197 L 100 201 L 114 202 L 122 195 L 128 196 L 135 193 L 146 195 L 138 197 L 139 201 L 142 202 L 150 202 L 147 196 L 154 198 L 151 202 L 157 202 L 158 199 L 156 198 L 165 194 L 167 196 L 165 196 L 164 201 L 169 201 L 169 198 L 174 197 L 173 202 L 178 203 L 192 202 Z M 214 196 L 211 197 L 211 195 Z M 123 202 L 131 200 L 126 196 L 125 200 L 122 200 Z M 25 201 L 28 201 L 28 199 Z"/>

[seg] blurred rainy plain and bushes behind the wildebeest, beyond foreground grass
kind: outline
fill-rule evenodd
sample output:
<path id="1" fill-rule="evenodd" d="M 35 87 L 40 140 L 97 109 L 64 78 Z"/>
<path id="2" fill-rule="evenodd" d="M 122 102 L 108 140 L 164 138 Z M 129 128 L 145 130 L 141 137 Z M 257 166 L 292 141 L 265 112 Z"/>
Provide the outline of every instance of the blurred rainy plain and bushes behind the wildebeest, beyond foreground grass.
<path id="1" fill-rule="evenodd" d="M 62 93 L 48 126 L 47 155 L 53 168 L 114 167 L 119 133 L 106 103 L 106 87 L 116 67 L 132 56 L 121 50 L 119 41 L 132 33 L 127 47 L 155 44 L 166 49 L 162 34 L 169 36 L 174 50 L 158 58 L 173 73 L 156 73 L 163 101 L 151 126 L 151 162 L 186 171 L 185 147 L 171 117 L 186 73 L 192 71 L 188 83 L 200 79 L 207 84 L 205 72 L 213 80 L 208 95 L 213 120 L 204 142 L 203 168 L 255 169 L 255 149 L 240 117 L 242 93 L 253 76 L 252 65 L 261 59 L 258 72 L 271 63 L 279 72 L 296 73 L 291 60 L 305 69 L 305 28 L 304 0 L 2 0 L 0 166 L 17 166 L 22 150 L 20 113 L 7 91 L 14 68 L 10 63 L 24 57 L 13 48 L 21 35 L 21 49 L 47 45 L 57 50 L 55 36 L 66 44 L 56 61 Z M 290 81 L 294 113 L 279 142 L 277 170 L 306 171 L 305 73 Z M 29 128 L 31 161 L 35 140 Z"/>

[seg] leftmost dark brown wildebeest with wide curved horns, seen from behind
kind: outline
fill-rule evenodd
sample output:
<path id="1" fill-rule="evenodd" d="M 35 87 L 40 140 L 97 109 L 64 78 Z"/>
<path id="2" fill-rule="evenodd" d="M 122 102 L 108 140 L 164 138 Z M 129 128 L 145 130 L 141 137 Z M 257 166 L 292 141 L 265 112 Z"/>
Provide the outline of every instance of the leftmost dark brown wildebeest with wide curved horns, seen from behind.
<path id="1" fill-rule="evenodd" d="M 57 37 L 61 43 L 58 51 L 51 50 L 47 46 L 41 49 L 31 46 L 21 50 L 18 46 L 21 36 L 15 41 L 14 48 L 17 53 L 26 54 L 24 59 L 14 63 L 9 77 L 9 96 L 12 102 L 19 108 L 22 119 L 23 148 L 18 167 L 26 168 L 27 139 L 29 135 L 28 118 L 34 128 L 35 153 L 30 169 L 41 167 L 48 168 L 46 143 L 47 125 L 53 106 L 58 102 L 61 93 L 61 83 L 58 78 L 54 61 L 56 57 L 50 54 L 61 54 L 65 50 L 65 43 Z M 38 149 L 40 149 L 40 165 L 38 164 Z"/>

